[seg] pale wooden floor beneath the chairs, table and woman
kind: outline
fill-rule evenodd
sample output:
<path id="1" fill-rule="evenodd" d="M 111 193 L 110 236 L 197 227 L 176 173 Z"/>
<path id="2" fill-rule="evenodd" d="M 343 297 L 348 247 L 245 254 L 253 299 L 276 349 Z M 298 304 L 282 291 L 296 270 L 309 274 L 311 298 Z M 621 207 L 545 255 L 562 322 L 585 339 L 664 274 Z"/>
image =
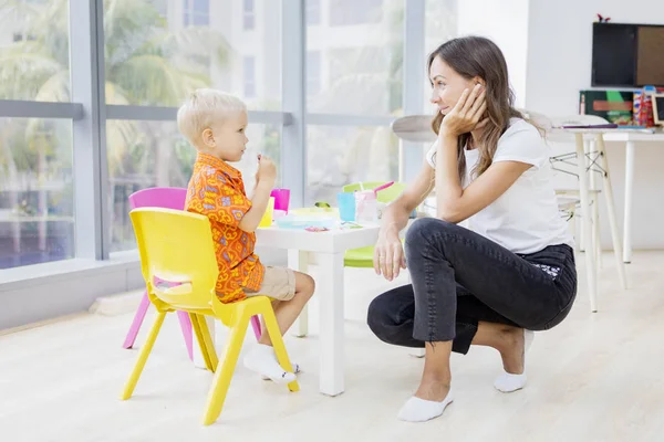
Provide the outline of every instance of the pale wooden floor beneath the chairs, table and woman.
<path id="1" fill-rule="evenodd" d="M 391 284 L 370 270 L 346 275 L 346 391 L 340 397 L 318 392 L 315 302 L 311 336 L 287 339 L 304 369 L 301 391 L 289 393 L 239 367 L 226 409 L 208 428 L 199 422 L 211 376 L 187 359 L 175 316 L 134 398 L 122 402 L 136 357 L 121 348 L 132 315 L 81 315 L 0 336 L 0 439 L 664 441 L 664 253 L 634 255 L 629 291 L 620 288 L 605 254 L 600 312 L 590 313 L 582 278 L 569 318 L 536 335 L 522 391 L 494 390 L 500 365 L 492 350 L 455 355 L 455 402 L 442 418 L 419 424 L 396 420 L 396 411 L 417 386 L 423 361 L 380 343 L 365 323 L 369 302 Z"/>

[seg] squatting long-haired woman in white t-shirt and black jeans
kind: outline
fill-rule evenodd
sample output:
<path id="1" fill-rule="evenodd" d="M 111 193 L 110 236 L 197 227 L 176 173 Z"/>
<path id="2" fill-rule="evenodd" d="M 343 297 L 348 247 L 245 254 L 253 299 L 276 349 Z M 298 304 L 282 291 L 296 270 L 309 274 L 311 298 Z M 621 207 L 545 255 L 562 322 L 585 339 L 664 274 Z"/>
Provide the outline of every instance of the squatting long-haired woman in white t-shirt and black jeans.
<path id="1" fill-rule="evenodd" d="M 375 298 L 369 325 L 382 340 L 425 347 L 422 381 L 400 419 L 425 421 L 452 402 L 450 351 L 500 351 L 504 392 L 523 388 L 531 332 L 568 315 L 577 293 L 572 239 L 550 183 L 548 148 L 512 107 L 507 64 L 491 41 L 468 36 L 428 59 L 437 141 L 415 181 L 383 215 L 374 267 L 413 281 Z M 398 232 L 435 189 L 437 217 Z M 468 220 L 470 230 L 457 225 Z"/>

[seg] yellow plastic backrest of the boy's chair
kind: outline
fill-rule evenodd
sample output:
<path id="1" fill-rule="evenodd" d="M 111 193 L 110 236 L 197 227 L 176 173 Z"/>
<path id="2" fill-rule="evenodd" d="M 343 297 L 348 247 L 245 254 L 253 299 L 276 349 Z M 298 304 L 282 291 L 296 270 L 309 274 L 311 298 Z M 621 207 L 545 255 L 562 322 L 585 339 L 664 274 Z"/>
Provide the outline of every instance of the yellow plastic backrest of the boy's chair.
<path id="1" fill-rule="evenodd" d="M 210 311 L 220 304 L 215 294 L 219 270 L 206 217 L 162 208 L 134 209 L 129 217 L 143 277 L 157 307 Z M 156 281 L 180 285 L 167 288 Z"/>

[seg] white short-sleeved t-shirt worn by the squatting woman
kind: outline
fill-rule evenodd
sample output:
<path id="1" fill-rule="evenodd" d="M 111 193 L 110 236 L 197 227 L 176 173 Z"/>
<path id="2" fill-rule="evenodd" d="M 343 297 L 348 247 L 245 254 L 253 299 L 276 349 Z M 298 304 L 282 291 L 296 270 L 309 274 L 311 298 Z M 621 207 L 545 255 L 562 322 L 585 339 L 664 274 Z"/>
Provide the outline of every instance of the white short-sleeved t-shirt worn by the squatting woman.
<path id="1" fill-rule="evenodd" d="M 434 169 L 436 148 L 437 143 L 426 154 Z M 464 187 L 467 187 L 473 181 L 471 171 L 479 161 L 479 150 L 464 151 Z M 551 185 L 549 147 L 538 129 L 523 119 L 512 118 L 498 140 L 492 161 L 519 161 L 532 167 L 496 201 L 470 217 L 469 229 L 519 254 L 539 252 L 549 245 L 572 245 Z"/>

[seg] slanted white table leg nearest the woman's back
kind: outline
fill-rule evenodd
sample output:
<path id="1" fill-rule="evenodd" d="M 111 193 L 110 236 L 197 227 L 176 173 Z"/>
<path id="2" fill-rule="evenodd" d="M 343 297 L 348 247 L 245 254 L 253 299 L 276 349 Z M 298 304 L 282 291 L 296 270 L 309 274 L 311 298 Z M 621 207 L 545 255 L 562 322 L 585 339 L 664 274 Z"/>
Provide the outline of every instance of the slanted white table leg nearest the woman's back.
<path id="1" fill-rule="evenodd" d="M 591 224 L 591 208 L 590 196 L 588 192 L 588 173 L 585 172 L 585 151 L 583 149 L 583 134 L 577 134 L 577 167 L 579 168 L 580 199 L 581 199 L 581 217 L 583 224 L 583 238 L 585 241 L 585 273 L 588 275 L 588 295 L 590 297 L 591 312 L 598 311 L 598 293 L 596 293 L 596 269 L 594 260 L 594 250 L 592 249 L 592 227 Z"/>

